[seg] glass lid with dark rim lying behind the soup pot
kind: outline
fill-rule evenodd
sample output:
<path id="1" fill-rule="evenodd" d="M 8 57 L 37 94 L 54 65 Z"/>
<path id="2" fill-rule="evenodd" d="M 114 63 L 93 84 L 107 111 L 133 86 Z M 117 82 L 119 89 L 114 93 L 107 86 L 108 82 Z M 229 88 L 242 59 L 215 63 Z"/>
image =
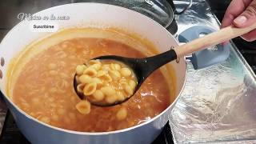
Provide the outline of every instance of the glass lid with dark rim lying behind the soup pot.
<path id="1" fill-rule="evenodd" d="M 193 3 L 190 0 L 183 10 L 176 10 L 173 0 L 79 0 L 78 2 L 97 2 L 126 7 L 154 19 L 154 21 L 164 26 L 170 34 L 176 34 L 178 30 L 174 14 L 183 14 L 190 9 Z"/>

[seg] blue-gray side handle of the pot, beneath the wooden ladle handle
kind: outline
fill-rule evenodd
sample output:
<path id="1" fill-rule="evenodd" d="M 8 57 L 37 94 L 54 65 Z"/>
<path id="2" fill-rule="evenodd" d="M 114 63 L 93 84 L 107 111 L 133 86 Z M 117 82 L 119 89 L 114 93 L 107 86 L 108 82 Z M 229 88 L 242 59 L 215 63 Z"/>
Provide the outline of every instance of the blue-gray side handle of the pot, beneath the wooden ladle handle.
<path id="1" fill-rule="evenodd" d="M 179 42 L 190 42 L 199 38 L 201 34 L 210 34 L 215 30 L 208 26 L 192 26 L 178 35 Z M 222 46 L 221 44 L 211 47 L 210 49 L 200 50 L 192 54 L 190 61 L 194 69 L 202 69 L 207 66 L 212 66 L 216 63 L 223 62 L 230 56 L 230 46 Z"/>

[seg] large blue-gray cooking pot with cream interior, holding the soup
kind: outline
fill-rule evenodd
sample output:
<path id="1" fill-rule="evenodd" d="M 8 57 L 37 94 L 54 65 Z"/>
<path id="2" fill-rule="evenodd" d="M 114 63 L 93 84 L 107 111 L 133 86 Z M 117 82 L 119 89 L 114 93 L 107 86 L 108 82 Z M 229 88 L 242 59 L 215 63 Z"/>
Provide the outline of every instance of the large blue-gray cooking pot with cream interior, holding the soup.
<path id="1" fill-rule="evenodd" d="M 112 6 L 99 3 L 75 3 L 67 4 L 63 6 L 52 7 L 47 10 L 42 10 L 35 15 L 63 15 L 69 16 L 67 21 L 55 21 L 58 23 L 58 27 L 67 28 L 70 26 L 86 26 L 92 25 L 93 23 L 97 26 L 114 26 L 118 28 L 123 28 L 126 30 L 131 30 L 139 35 L 142 35 L 150 42 L 154 43 L 154 46 L 158 48 L 159 52 L 164 52 L 169 50 L 171 47 L 178 46 L 178 42 L 173 38 L 173 36 L 160 24 L 154 22 L 152 19 L 147 18 L 143 14 L 139 14 L 133 10 L 129 10 L 119 6 Z M 95 25 L 95 26 L 96 26 Z M 163 126 L 168 121 L 170 112 L 177 102 L 179 95 L 182 92 L 182 88 L 186 81 L 186 59 L 180 58 L 177 62 L 170 62 L 174 68 L 174 73 L 176 74 L 176 79 L 174 82 L 176 85 L 176 100 L 162 111 L 158 116 L 150 119 L 147 122 L 139 124 L 138 126 L 133 126 L 124 130 L 116 130 L 110 132 L 101 133 L 88 133 L 88 132 L 78 132 L 72 130 L 64 130 L 55 126 L 50 126 L 46 123 L 39 122 L 37 119 L 30 117 L 24 111 L 18 108 L 11 101 L 9 95 L 6 93 L 6 83 L 8 80 L 7 69 L 10 65 L 12 58 L 17 56 L 30 42 L 34 42 L 40 38 L 45 37 L 47 32 L 32 32 L 29 28 L 30 21 L 22 21 L 17 26 L 14 26 L 12 30 L 6 37 L 3 38 L 0 45 L 0 57 L 2 57 L 2 62 L 0 70 L 2 71 L 2 78 L 0 78 L 0 87 L 2 94 L 11 114 L 13 114 L 15 122 L 18 128 L 22 131 L 22 134 L 31 142 L 36 144 L 70 144 L 70 143 L 122 143 L 122 144 L 134 144 L 134 143 L 150 143 L 153 142 L 154 138 L 160 134 Z M 202 28 L 195 27 L 195 32 L 193 34 L 201 34 Z M 207 31 L 207 30 L 206 30 Z M 210 30 L 208 30 L 208 33 Z M 184 42 L 191 40 L 191 32 L 185 31 L 181 40 Z M 226 50 L 216 50 L 208 52 L 201 52 L 200 54 L 208 54 L 207 57 L 203 59 L 206 64 L 194 62 L 195 66 L 198 68 L 204 66 L 212 65 L 216 62 L 223 61 L 227 58 L 228 52 L 222 54 Z M 210 54 L 215 54 L 214 57 L 210 57 Z M 200 54 L 194 54 L 192 61 L 200 59 Z M 207 55 L 206 54 L 206 55 Z M 216 57 L 217 55 L 222 56 Z M 207 59 L 208 58 L 208 59 Z M 218 60 L 216 60 L 216 58 Z M 5 61 L 5 62 L 3 62 Z M 201 60 L 202 61 L 202 60 Z"/>

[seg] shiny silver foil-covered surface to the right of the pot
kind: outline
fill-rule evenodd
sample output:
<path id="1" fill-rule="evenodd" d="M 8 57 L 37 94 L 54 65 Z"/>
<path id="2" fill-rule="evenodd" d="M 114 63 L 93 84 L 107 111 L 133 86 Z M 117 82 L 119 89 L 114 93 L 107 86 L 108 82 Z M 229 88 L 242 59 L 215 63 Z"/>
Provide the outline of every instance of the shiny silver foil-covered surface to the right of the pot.
<path id="1" fill-rule="evenodd" d="M 187 2 L 174 2 L 182 9 Z M 219 29 L 203 0 L 178 16 L 178 34 L 191 26 Z M 176 143 L 256 142 L 256 76 L 237 48 L 230 44 L 226 62 L 202 70 L 188 63 L 185 89 L 170 117 Z"/>

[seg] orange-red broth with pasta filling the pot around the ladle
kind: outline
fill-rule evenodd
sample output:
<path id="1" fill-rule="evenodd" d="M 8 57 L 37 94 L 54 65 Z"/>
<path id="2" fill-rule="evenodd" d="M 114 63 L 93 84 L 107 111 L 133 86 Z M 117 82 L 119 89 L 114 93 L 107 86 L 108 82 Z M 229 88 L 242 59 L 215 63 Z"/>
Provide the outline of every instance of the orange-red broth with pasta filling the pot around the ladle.
<path id="1" fill-rule="evenodd" d="M 162 71 L 156 70 L 128 101 L 110 107 L 91 105 L 90 113 L 80 113 L 76 105 L 81 99 L 73 86 L 76 68 L 91 58 L 109 54 L 146 57 L 126 43 L 107 38 L 68 38 L 34 54 L 22 66 L 14 82 L 11 99 L 26 114 L 41 122 L 86 132 L 136 126 L 170 106 L 174 100 L 171 90 L 174 89 Z"/>

